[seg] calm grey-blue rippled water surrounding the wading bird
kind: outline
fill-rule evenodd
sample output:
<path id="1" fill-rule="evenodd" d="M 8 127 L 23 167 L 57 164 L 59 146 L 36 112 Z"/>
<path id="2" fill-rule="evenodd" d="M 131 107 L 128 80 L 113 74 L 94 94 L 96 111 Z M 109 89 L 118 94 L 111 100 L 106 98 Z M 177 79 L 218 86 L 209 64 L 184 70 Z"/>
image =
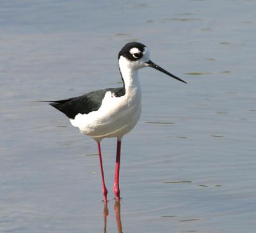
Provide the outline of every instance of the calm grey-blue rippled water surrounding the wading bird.
<path id="1" fill-rule="evenodd" d="M 255 232 L 255 1 L 0 2 L 1 232 Z M 95 142 L 45 103 L 120 86 L 117 53 L 148 45 L 187 80 L 140 71 L 141 120 Z M 105 216 L 105 220 L 104 220 Z M 104 226 L 105 225 L 105 226 Z"/>

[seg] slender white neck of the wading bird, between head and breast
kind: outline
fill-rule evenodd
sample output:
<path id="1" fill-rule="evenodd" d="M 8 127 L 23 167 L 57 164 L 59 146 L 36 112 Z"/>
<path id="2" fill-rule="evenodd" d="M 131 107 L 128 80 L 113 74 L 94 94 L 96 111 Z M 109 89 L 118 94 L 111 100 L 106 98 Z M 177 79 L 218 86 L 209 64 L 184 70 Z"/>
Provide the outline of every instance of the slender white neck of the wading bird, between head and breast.
<path id="1" fill-rule="evenodd" d="M 138 69 L 132 67 L 131 61 L 121 56 L 118 60 L 120 72 L 124 80 L 125 93 L 129 91 L 141 92 Z"/>

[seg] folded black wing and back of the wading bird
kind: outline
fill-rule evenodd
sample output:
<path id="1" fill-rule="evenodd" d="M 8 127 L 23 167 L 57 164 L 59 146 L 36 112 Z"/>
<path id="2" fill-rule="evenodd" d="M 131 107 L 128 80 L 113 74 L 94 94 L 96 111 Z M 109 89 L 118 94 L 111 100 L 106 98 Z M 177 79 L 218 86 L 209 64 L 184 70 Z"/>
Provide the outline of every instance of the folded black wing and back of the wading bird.
<path id="1" fill-rule="evenodd" d="M 107 91 L 115 93 L 116 97 L 125 94 L 124 87 L 108 88 L 99 91 L 92 91 L 83 96 L 69 98 L 67 100 L 49 101 L 52 107 L 63 112 L 68 118 L 74 119 L 77 114 L 88 114 L 89 112 L 97 111 L 102 103 L 102 100 Z"/>

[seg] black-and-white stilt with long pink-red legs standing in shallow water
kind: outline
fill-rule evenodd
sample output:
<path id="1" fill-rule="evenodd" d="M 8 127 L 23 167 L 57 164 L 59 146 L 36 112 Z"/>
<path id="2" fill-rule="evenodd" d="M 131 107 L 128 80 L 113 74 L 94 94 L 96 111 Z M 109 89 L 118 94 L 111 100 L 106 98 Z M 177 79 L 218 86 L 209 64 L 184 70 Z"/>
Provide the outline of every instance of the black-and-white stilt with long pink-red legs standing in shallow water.
<path id="1" fill-rule="evenodd" d="M 134 128 L 141 114 L 141 87 L 138 70 L 149 66 L 174 79 L 185 82 L 153 63 L 150 60 L 147 46 L 142 43 L 127 43 L 118 54 L 118 63 L 124 83 L 123 87 L 93 91 L 67 100 L 49 101 L 53 107 L 63 112 L 70 119 L 73 126 L 96 140 L 99 149 L 102 193 L 105 203 L 107 202 L 108 190 L 104 182 L 100 141 L 105 137 L 117 138 L 113 192 L 116 199 L 119 200 L 121 140 L 126 133 Z"/>

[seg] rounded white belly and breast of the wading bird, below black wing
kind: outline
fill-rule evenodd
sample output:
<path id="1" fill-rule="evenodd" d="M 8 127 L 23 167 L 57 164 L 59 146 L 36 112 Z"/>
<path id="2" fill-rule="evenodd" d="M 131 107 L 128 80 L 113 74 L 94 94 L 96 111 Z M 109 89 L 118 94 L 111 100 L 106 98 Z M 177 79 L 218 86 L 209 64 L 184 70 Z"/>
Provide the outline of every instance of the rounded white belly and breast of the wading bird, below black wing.
<path id="1" fill-rule="evenodd" d="M 141 93 L 134 89 L 124 96 L 115 97 L 108 91 L 99 110 L 88 114 L 77 114 L 70 119 L 73 126 L 97 140 L 104 137 L 122 137 L 130 132 L 141 115 Z"/>

